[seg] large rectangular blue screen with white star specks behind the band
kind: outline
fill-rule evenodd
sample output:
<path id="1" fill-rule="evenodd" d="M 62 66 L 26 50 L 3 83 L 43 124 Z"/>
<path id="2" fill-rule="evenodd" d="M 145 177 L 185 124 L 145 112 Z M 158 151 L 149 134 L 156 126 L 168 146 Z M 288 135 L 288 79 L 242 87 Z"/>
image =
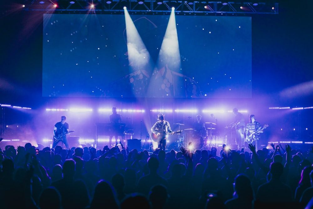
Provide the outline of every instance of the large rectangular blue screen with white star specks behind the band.
<path id="1" fill-rule="evenodd" d="M 44 97 L 251 98 L 251 17 L 45 14 Z"/>

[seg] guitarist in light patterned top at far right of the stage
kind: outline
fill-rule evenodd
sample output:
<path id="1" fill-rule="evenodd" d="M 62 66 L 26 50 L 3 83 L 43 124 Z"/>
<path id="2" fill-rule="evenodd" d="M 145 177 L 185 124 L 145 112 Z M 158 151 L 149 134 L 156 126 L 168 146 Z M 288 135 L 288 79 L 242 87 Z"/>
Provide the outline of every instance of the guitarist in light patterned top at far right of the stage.
<path id="1" fill-rule="evenodd" d="M 256 121 L 254 115 L 250 115 L 249 118 L 250 122 L 246 125 L 246 141 L 249 144 L 251 144 L 252 141 L 255 141 L 255 147 L 257 149 L 257 142 L 260 138 L 260 133 L 263 133 L 263 130 L 261 130 L 261 124 Z M 251 133 L 253 133 L 253 135 L 251 136 L 251 138 L 249 138 L 249 135 L 251 135 Z"/>

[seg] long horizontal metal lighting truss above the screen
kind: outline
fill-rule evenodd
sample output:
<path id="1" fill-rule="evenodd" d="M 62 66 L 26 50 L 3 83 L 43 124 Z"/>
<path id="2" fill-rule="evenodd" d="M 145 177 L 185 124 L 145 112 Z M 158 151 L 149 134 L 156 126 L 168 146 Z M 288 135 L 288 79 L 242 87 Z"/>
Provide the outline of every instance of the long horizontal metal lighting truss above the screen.
<path id="1" fill-rule="evenodd" d="M 26 0 L 27 11 L 79 11 L 86 13 L 124 12 L 171 12 L 182 14 L 278 14 L 278 3 L 256 2 L 203 2 L 203 1 L 162 1 L 162 0 Z"/>

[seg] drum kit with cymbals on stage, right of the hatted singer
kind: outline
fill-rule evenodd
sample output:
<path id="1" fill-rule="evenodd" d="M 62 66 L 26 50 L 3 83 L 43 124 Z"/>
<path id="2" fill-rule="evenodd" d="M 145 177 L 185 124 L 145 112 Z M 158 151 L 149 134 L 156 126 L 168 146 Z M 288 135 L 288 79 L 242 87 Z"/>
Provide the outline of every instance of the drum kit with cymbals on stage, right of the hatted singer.
<path id="1" fill-rule="evenodd" d="M 185 124 L 182 123 L 174 123 L 178 125 L 178 130 L 180 131 L 180 126 Z M 193 128 L 183 129 L 182 132 L 178 135 L 176 140 L 176 146 L 179 147 L 187 147 L 189 142 L 192 143 L 195 149 L 209 149 L 211 147 L 216 147 L 216 123 L 205 123 L 205 130 L 197 131 Z"/>

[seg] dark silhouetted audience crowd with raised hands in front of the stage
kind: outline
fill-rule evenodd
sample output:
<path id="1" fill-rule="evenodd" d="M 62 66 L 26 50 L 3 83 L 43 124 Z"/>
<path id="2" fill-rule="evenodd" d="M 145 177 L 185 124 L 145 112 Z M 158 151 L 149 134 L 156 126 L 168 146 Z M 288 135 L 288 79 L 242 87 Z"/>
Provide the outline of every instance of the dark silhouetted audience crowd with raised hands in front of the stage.
<path id="1" fill-rule="evenodd" d="M 311 208 L 313 151 L 0 150 L 1 208 Z"/>

